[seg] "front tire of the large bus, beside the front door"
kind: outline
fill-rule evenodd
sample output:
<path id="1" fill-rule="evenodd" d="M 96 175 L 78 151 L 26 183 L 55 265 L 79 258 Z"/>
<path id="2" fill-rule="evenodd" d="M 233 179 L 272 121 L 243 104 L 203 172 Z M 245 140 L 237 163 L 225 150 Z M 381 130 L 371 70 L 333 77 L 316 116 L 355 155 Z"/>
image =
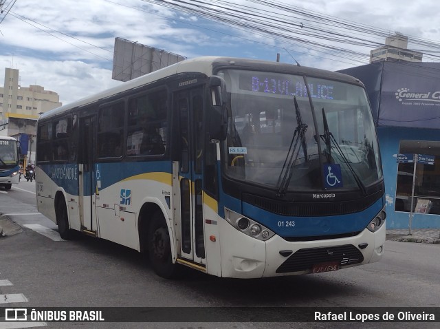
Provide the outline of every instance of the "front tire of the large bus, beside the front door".
<path id="1" fill-rule="evenodd" d="M 160 211 L 156 211 L 151 217 L 148 229 L 148 256 L 151 267 L 159 277 L 175 279 L 179 276 L 179 265 L 173 264 L 171 259 L 168 227 Z"/>

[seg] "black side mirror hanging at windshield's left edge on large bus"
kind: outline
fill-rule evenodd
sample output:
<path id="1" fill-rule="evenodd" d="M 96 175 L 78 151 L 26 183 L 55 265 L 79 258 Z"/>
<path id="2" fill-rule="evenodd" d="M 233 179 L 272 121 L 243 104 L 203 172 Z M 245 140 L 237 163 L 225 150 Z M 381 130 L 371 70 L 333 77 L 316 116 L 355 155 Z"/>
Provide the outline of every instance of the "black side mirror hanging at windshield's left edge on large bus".
<path id="1" fill-rule="evenodd" d="M 211 140 L 225 140 L 228 132 L 228 92 L 220 76 L 210 76 L 211 107 L 208 113 L 208 128 Z"/>

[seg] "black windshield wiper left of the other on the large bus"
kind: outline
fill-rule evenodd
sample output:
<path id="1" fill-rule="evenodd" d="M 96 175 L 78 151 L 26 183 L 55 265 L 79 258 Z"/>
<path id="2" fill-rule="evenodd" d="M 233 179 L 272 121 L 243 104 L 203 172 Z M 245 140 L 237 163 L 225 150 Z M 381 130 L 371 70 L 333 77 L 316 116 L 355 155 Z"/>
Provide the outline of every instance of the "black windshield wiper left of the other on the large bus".
<path id="1" fill-rule="evenodd" d="M 285 191 L 289 186 L 289 182 L 292 179 L 293 167 L 296 163 L 296 160 L 298 160 L 298 156 L 300 153 L 300 146 L 303 147 L 305 161 L 308 160 L 307 143 L 305 141 L 305 132 L 307 131 L 308 126 L 303 123 L 300 107 L 298 106 L 296 97 L 294 97 L 294 103 L 296 112 L 296 123 L 298 125 L 295 128 L 294 136 L 292 137 L 292 141 L 290 142 L 289 151 L 287 151 L 287 156 L 284 161 L 283 168 L 281 169 L 280 176 L 278 177 L 278 182 L 276 182 L 276 186 L 278 187 L 278 193 L 276 193 L 276 195 L 278 197 L 285 195 Z"/>

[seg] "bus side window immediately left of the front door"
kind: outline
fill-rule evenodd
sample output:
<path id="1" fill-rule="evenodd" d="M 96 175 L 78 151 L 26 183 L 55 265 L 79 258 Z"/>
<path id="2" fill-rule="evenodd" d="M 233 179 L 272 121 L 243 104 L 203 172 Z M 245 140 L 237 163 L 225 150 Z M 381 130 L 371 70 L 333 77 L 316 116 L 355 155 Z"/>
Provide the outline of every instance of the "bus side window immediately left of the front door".
<path id="1" fill-rule="evenodd" d="M 129 100 L 128 156 L 157 156 L 166 148 L 166 90 Z"/>

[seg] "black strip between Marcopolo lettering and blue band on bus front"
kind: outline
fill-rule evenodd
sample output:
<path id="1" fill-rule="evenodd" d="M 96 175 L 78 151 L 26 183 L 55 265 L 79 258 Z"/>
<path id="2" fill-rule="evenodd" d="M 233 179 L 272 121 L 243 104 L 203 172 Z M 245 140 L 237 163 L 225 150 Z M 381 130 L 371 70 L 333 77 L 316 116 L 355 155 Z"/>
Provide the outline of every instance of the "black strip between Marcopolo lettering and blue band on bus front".
<path id="1" fill-rule="evenodd" d="M 343 202 L 285 202 L 243 193 L 243 202 L 278 215 L 311 217 L 358 213 L 367 209 L 381 197 L 382 191 L 379 191 L 360 200 Z"/>

